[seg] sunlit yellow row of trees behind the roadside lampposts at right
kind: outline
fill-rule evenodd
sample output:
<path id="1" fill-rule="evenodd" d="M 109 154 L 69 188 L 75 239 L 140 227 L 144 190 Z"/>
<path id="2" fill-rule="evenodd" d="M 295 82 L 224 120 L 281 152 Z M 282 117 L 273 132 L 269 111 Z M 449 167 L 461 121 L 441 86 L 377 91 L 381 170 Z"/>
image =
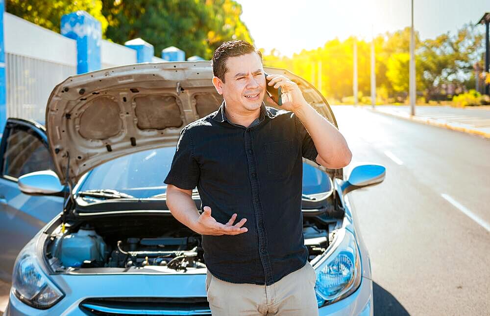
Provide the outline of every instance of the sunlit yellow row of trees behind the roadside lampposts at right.
<path id="1" fill-rule="evenodd" d="M 417 93 L 428 101 L 445 97 L 445 88 L 474 88 L 473 65 L 482 63 L 483 32 L 478 26 L 465 24 L 456 34 L 441 34 L 421 41 L 415 33 Z M 264 56 L 264 64 L 287 68 L 309 79 L 317 88 L 321 61 L 321 92 L 335 101 L 353 94 L 353 37 L 344 41 L 327 41 L 323 47 L 302 50 L 293 58 L 273 50 Z M 376 94 L 379 102 L 403 101 L 409 91 L 410 28 L 387 32 L 374 38 Z M 357 40 L 358 89 L 370 95 L 371 42 Z M 334 101 L 334 102 L 335 102 Z M 369 101 L 370 102 L 370 101 Z"/>

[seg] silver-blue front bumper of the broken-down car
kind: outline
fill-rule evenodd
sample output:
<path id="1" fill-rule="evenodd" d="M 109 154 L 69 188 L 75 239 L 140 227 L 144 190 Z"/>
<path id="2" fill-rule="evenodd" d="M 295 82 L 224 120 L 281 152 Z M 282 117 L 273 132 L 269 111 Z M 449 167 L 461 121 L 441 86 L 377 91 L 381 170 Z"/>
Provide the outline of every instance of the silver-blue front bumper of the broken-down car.
<path id="1" fill-rule="evenodd" d="M 129 278 L 128 278 L 129 277 Z M 9 303 L 4 316 L 17 315 L 70 315 L 86 316 L 79 304 L 86 298 L 94 297 L 188 297 L 205 296 L 205 275 L 175 276 L 165 275 L 158 280 L 155 275 L 91 275 L 91 276 L 62 276 L 63 282 L 58 284 L 75 284 L 81 281 L 87 286 L 80 285 L 79 290 L 73 292 L 66 287 L 63 291 L 66 296 L 53 307 L 47 310 L 38 310 L 21 302 L 10 291 Z M 78 278 L 75 280 L 73 278 Z M 88 279 L 85 279 L 88 278 Z M 71 279 L 72 282 L 67 282 Z M 89 280 L 90 279 L 90 280 Z M 124 280 L 124 281 L 123 281 Z M 60 280 L 61 281 L 61 280 Z M 122 282 L 123 281 L 123 282 Z M 87 283 L 88 282 L 88 283 Z M 202 286 L 199 286 L 202 283 Z M 110 293 L 110 294 L 109 294 Z M 362 278 L 361 285 L 356 292 L 341 301 L 319 308 L 319 315 L 373 315 L 372 281 Z"/>

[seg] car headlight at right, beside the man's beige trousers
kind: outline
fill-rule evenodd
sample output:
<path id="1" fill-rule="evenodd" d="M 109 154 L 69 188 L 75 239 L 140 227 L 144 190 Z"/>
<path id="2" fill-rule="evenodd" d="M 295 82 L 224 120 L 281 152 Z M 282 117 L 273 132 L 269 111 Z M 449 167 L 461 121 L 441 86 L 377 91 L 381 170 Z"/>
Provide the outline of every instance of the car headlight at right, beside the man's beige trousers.
<path id="1" fill-rule="evenodd" d="M 354 235 L 342 228 L 336 232 L 333 247 L 315 263 L 318 306 L 332 304 L 354 293 L 361 284 L 359 248 Z"/>

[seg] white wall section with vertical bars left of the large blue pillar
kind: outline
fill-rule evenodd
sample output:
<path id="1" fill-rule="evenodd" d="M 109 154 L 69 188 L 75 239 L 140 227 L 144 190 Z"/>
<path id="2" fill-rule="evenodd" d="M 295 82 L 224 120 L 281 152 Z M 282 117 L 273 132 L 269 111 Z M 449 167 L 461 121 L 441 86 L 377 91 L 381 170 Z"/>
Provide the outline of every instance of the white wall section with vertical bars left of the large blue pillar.
<path id="1" fill-rule="evenodd" d="M 76 42 L 7 12 L 3 22 L 6 116 L 44 123 L 54 86 L 76 74 Z"/>

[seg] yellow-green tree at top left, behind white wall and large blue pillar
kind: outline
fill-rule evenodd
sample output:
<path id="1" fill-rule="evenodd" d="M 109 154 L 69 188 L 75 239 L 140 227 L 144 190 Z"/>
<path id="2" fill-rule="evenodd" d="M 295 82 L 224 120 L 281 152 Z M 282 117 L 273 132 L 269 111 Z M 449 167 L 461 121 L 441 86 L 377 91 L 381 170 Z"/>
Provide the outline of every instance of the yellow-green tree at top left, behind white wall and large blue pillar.
<path id="1" fill-rule="evenodd" d="M 87 11 L 102 27 L 107 28 L 107 20 L 101 13 L 101 0 L 6 0 L 5 10 L 32 23 L 60 32 L 61 17 L 78 10 Z"/>

